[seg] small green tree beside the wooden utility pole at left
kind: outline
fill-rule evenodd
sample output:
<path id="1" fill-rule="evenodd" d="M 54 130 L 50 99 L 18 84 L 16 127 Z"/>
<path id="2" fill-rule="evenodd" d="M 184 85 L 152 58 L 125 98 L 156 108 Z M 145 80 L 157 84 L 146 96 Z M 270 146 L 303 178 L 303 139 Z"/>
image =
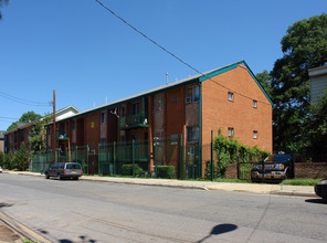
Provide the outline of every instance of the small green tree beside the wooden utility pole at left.
<path id="1" fill-rule="evenodd" d="M 32 133 L 29 136 L 32 151 L 46 150 L 46 129 L 44 128 L 44 125 L 51 123 L 52 120 L 52 116 L 45 115 L 42 119 L 33 125 Z"/>

